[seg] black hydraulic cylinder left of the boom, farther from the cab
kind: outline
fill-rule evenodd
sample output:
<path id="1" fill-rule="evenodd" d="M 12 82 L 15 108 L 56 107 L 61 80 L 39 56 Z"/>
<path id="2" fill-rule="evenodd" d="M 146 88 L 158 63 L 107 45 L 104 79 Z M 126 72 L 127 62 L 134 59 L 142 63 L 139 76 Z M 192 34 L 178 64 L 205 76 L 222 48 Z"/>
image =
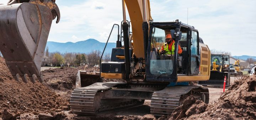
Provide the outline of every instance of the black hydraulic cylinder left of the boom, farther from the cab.
<path id="1" fill-rule="evenodd" d="M 128 39 L 128 24 L 124 22 L 123 25 L 123 39 L 124 39 L 124 60 L 125 60 L 125 68 L 126 74 L 125 79 L 129 80 L 130 75 L 130 55 L 129 55 L 129 39 Z"/>

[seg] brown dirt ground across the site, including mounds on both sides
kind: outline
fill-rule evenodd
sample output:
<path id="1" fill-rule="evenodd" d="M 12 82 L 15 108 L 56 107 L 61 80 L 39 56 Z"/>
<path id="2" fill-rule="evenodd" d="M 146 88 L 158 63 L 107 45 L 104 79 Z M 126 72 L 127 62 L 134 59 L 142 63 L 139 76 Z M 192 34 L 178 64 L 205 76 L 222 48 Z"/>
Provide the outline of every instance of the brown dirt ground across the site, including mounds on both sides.
<path id="1" fill-rule="evenodd" d="M 27 119 L 76 119 L 76 120 L 165 120 L 165 119 L 256 119 L 256 78 L 231 77 L 226 91 L 208 87 L 209 104 L 188 97 L 186 104 L 178 107 L 173 115 L 155 118 L 150 114 L 150 100 L 143 106 L 104 113 L 97 116 L 81 116 L 70 112 L 70 94 L 75 88 L 76 74 L 80 67 L 42 68 L 44 83 L 16 82 L 3 58 L 0 57 L 0 120 Z M 92 72 L 93 66 L 87 71 Z M 125 82 L 105 79 L 103 82 Z"/>

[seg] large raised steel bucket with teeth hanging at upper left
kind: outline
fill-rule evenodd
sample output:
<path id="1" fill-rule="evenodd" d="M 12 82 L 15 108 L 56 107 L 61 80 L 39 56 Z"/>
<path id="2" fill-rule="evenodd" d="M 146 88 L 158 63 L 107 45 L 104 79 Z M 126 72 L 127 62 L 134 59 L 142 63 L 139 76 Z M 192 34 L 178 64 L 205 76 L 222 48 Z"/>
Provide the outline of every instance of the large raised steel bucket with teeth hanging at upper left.
<path id="1" fill-rule="evenodd" d="M 12 76 L 43 82 L 41 64 L 52 20 L 60 20 L 55 0 L 10 0 L 0 4 L 0 51 Z"/>

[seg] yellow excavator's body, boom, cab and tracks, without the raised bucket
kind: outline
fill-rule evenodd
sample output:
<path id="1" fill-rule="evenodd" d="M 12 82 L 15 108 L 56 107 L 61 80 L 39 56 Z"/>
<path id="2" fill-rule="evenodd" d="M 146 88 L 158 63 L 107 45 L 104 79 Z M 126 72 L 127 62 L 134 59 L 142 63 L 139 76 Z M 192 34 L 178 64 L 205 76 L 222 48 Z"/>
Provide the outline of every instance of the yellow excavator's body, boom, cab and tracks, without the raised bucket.
<path id="1" fill-rule="evenodd" d="M 99 77 L 124 79 L 126 83 L 86 86 L 83 85 L 87 82 L 83 74 L 83 80 L 77 79 L 76 82 L 79 88 L 71 94 L 71 111 L 96 115 L 151 100 L 151 114 L 161 116 L 171 114 L 190 95 L 208 103 L 207 88 L 188 85 L 188 82 L 209 80 L 210 77 L 210 50 L 199 38 L 198 30 L 178 20 L 153 22 L 149 0 L 123 0 L 122 7 L 123 21 L 116 48 L 112 49 L 111 61 L 101 62 Z M 130 22 L 126 19 L 126 8 Z M 112 30 L 114 26 L 119 30 L 117 24 Z M 167 34 L 176 41 L 173 60 L 160 59 L 160 49 L 166 43 Z M 120 38 L 123 38 L 123 45 Z M 178 45 L 182 49 L 179 55 Z"/>

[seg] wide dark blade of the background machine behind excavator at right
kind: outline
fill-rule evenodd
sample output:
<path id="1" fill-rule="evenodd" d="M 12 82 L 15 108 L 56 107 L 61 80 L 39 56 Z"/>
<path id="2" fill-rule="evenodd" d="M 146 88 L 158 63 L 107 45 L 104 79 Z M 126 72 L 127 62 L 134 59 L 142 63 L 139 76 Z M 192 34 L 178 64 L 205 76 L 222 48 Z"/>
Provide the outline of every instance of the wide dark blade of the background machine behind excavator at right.
<path id="1" fill-rule="evenodd" d="M 199 85 L 203 86 L 223 86 L 224 78 L 226 76 L 226 85 L 230 84 L 230 73 L 229 72 L 220 72 L 220 71 L 210 71 L 210 79 L 208 81 L 198 81 Z"/>

